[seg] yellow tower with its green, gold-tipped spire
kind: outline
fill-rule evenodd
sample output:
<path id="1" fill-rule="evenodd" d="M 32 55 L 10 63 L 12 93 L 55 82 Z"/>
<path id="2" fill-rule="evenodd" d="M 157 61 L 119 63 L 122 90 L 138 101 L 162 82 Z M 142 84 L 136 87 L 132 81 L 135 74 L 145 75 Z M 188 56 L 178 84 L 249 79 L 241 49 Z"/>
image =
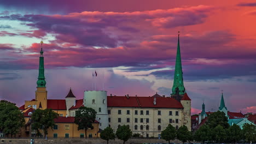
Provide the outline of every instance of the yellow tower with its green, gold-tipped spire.
<path id="1" fill-rule="evenodd" d="M 43 41 L 41 41 L 41 51 L 39 57 L 39 74 L 37 80 L 37 91 L 36 91 L 36 101 L 38 101 L 38 107 L 40 109 L 47 109 L 47 91 L 46 91 L 46 81 L 44 77 L 44 56 L 43 56 Z"/>

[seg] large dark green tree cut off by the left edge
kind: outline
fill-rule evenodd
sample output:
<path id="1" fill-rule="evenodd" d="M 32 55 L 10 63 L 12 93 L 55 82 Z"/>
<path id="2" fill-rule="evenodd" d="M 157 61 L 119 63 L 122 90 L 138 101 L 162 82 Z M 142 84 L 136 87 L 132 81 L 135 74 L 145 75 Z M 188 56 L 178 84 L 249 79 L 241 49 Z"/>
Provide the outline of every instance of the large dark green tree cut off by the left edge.
<path id="1" fill-rule="evenodd" d="M 0 129 L 5 135 L 16 135 L 24 126 L 25 119 L 16 104 L 6 100 L 0 101 Z"/>

